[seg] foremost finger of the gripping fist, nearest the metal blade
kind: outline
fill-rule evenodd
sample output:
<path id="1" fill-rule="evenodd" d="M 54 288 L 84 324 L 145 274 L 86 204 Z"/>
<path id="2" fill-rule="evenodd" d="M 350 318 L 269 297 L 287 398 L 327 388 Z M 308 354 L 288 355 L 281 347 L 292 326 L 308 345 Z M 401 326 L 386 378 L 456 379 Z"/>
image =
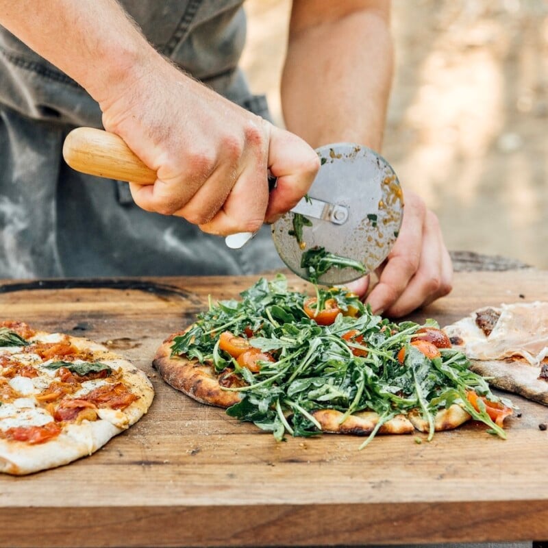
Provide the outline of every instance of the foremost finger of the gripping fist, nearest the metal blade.
<path id="1" fill-rule="evenodd" d="M 272 127 L 269 145 L 268 167 L 277 184 L 270 194 L 266 221 L 273 223 L 308 192 L 320 160 L 310 145 L 284 129 Z"/>

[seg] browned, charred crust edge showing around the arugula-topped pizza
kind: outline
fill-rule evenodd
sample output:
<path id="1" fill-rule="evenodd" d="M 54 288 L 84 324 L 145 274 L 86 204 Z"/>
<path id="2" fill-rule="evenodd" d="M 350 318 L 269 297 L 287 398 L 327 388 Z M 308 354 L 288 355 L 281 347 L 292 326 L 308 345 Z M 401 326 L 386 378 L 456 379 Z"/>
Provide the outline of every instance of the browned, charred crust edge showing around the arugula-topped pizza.
<path id="1" fill-rule="evenodd" d="M 202 364 L 197 360 L 188 360 L 185 356 L 171 355 L 173 339 L 182 333 L 184 332 L 173 334 L 164 340 L 153 360 L 154 369 L 160 373 L 165 382 L 199 403 L 222 408 L 238 403 L 241 399 L 240 393 L 225 389 L 229 386 L 237 386 L 239 381 L 236 375 L 229 372 L 216 375 L 212 364 Z M 343 422 L 341 419 L 344 414 L 334 409 L 319 409 L 312 412 L 312 416 L 321 425 L 322 432 L 353 436 L 369 436 L 380 420 L 379 414 L 374 411 L 353 413 Z M 453 403 L 449 409 L 439 410 L 436 413 L 434 429 L 436 432 L 454 429 L 470 419 L 471 416 L 464 409 Z M 428 422 L 423 419 L 418 410 L 409 416 L 399 414 L 386 421 L 381 425 L 378 433 L 412 434 L 416 430 L 429 431 Z"/>

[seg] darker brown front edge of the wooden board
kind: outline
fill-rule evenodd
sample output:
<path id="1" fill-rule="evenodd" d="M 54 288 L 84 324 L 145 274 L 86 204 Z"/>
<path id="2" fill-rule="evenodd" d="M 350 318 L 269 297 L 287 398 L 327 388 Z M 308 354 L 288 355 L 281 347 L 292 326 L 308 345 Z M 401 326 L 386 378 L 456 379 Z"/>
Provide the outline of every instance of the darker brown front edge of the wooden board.
<path id="1" fill-rule="evenodd" d="M 451 507 L 451 508 L 449 508 Z M 57 511 L 56 511 L 57 510 Z M 62 512 L 61 510 L 67 510 Z M 449 514 L 451 510 L 451 516 Z M 22 515 L 23 514 L 23 515 Z M 310 523 L 314 526 L 310 527 Z M 14 530 L 10 523 L 18 523 Z M 316 505 L 3 508 L 0 547 L 261 547 L 548 538 L 543 500 Z M 314 531 L 311 534 L 311 530 Z M 40 531 L 37 538 L 36 531 Z"/>

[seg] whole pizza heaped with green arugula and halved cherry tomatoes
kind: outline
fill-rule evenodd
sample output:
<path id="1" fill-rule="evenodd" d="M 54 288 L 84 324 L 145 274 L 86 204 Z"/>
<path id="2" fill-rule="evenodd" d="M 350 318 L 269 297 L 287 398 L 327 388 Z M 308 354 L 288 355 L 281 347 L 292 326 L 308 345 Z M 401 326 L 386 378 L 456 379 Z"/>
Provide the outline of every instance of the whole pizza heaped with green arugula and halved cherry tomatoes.
<path id="1" fill-rule="evenodd" d="M 506 438 L 512 403 L 494 395 L 435 321 L 392 323 L 345 288 L 310 297 L 285 277 L 210 302 L 167 338 L 153 366 L 191 398 L 272 432 L 367 436 L 456 428 L 474 419 Z"/>

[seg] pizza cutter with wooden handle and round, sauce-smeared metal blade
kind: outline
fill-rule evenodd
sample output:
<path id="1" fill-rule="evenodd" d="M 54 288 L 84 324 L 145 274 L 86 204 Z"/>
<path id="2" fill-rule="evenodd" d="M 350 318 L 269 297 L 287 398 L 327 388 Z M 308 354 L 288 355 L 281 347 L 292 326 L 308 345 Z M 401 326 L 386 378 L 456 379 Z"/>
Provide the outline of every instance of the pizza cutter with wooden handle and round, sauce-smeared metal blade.
<path id="1" fill-rule="evenodd" d="M 388 256 L 401 227 L 403 193 L 390 164 L 367 147 L 340 142 L 316 152 L 321 167 L 308 195 L 272 225 L 272 237 L 280 258 L 303 279 L 310 279 L 301 266 L 303 253 L 313 249 L 360 262 L 360 271 L 334 266 L 318 277 L 321 284 L 346 284 L 374 271 Z M 119 136 L 100 129 L 73 129 L 63 156 L 82 173 L 140 184 L 156 179 Z M 251 236 L 227 236 L 227 245 L 241 247 Z"/>

